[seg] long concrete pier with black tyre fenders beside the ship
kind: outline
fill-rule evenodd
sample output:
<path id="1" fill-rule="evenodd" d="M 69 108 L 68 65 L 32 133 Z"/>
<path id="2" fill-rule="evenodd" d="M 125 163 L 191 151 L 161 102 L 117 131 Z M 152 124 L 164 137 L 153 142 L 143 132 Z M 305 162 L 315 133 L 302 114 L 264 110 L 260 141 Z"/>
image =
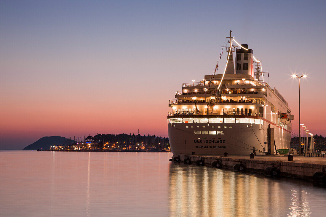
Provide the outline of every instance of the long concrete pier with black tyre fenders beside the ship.
<path id="1" fill-rule="evenodd" d="M 295 155 L 293 161 L 288 161 L 287 155 L 256 155 L 250 159 L 249 155 L 229 155 L 228 157 L 216 155 L 185 155 L 175 154 L 180 157 L 183 163 L 185 158 L 189 158 L 192 164 L 197 160 L 203 160 L 204 166 L 212 166 L 214 161 L 220 161 L 221 168 L 234 169 L 236 164 L 244 164 L 245 171 L 251 173 L 265 174 L 265 169 L 270 166 L 277 167 L 280 176 L 298 178 L 304 180 L 313 180 L 316 172 L 321 172 L 326 168 L 326 157 L 299 157 Z"/>

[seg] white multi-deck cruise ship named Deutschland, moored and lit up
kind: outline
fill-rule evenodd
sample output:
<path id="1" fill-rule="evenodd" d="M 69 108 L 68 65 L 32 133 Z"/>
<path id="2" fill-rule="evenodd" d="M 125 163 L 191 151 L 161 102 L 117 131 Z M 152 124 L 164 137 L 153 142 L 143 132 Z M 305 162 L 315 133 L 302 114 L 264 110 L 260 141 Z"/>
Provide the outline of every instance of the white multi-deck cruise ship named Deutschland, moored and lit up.
<path id="1" fill-rule="evenodd" d="M 200 82 L 183 83 L 169 102 L 171 151 L 174 155 L 250 154 L 253 149 L 256 154 L 286 153 L 293 119 L 287 101 L 265 82 L 268 72 L 262 71 L 253 50 L 238 44 L 231 31 L 226 38 L 223 74 L 214 71 Z"/>

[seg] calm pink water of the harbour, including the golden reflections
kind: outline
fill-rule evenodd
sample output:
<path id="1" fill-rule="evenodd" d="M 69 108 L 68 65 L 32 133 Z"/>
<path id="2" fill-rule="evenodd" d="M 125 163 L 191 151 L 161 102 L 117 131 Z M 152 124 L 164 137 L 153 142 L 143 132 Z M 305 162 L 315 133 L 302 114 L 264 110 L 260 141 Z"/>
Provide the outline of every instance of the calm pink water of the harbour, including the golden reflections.
<path id="1" fill-rule="evenodd" d="M 324 216 L 326 189 L 171 153 L 0 152 L 0 216 Z"/>

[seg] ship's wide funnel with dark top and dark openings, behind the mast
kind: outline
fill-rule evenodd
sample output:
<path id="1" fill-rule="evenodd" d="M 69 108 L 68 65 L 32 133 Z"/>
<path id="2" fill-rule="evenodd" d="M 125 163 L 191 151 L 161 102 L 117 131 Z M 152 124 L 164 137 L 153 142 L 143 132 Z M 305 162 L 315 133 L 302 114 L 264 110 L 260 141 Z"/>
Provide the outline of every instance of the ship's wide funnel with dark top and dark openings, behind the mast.
<path id="1" fill-rule="evenodd" d="M 254 77 L 254 51 L 248 49 L 247 44 L 242 44 L 240 49 L 235 51 L 236 74 L 251 75 Z"/>

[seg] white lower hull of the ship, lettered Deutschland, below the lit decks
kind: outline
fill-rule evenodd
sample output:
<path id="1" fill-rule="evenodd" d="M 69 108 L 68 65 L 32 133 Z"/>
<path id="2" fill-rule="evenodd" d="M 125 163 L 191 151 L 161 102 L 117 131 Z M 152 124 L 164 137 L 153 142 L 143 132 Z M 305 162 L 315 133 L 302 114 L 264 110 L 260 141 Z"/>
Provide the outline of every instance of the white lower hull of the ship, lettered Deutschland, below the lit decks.
<path id="1" fill-rule="evenodd" d="M 267 128 L 271 124 L 247 123 L 169 123 L 168 133 L 173 154 L 265 154 Z M 275 149 L 289 149 L 291 132 L 272 124 Z M 217 135 L 199 135 L 196 131 L 219 131 Z M 213 131 L 214 132 L 214 131 Z M 274 144 L 272 144 L 274 145 Z M 272 153 L 273 154 L 273 153 Z"/>

